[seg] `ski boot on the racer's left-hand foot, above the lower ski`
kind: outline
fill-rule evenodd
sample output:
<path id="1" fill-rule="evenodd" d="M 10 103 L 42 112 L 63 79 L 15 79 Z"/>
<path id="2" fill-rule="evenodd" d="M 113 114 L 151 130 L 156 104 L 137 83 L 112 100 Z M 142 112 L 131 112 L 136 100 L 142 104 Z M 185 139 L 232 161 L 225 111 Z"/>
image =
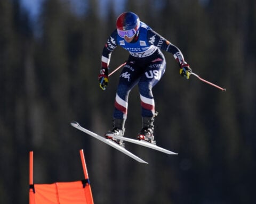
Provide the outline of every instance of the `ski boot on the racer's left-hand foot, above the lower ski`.
<path id="1" fill-rule="evenodd" d="M 114 119 L 113 120 L 113 129 L 109 130 L 105 134 L 105 137 L 107 139 L 113 140 L 114 142 L 116 142 L 121 147 L 124 147 L 123 140 L 115 139 L 115 138 L 113 138 L 113 136 L 116 135 L 116 136 L 119 136 L 119 137 L 124 137 L 124 131 L 125 131 L 124 124 L 125 124 L 124 119 Z"/>

